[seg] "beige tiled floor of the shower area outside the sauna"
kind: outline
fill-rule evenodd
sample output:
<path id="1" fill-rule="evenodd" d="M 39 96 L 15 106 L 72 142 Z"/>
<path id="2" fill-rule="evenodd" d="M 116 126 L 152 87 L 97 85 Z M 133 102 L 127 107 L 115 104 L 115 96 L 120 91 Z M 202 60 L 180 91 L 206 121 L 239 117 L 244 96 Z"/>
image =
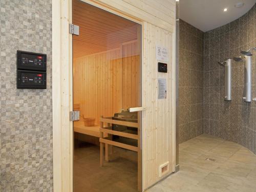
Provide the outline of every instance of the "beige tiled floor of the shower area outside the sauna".
<path id="1" fill-rule="evenodd" d="M 200 135 L 179 145 L 180 171 L 147 192 L 256 191 L 256 156 L 224 139 Z"/>

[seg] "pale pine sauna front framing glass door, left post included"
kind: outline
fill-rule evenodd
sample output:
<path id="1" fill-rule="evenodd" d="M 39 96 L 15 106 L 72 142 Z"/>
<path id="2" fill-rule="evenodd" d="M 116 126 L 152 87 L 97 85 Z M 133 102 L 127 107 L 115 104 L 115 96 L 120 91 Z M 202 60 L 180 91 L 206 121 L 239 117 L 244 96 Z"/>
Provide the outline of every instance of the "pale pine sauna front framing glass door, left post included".
<path id="1" fill-rule="evenodd" d="M 143 2 L 142 6 L 139 5 L 140 2 L 138 0 L 82 1 L 143 24 L 142 104 L 143 106 L 148 106 L 148 110 L 142 112 L 141 127 L 143 189 L 145 189 L 161 179 L 158 177 L 157 170 L 163 161 L 170 160 L 170 170 L 174 165 L 175 105 L 173 104 L 175 101 L 175 59 L 172 58 L 169 61 L 168 74 L 161 74 L 168 77 L 168 98 L 159 101 L 156 97 L 157 84 L 155 84 L 158 76 L 156 60 L 152 59 L 152 57 L 155 55 L 155 46 L 158 43 L 166 44 L 166 47 L 170 48 L 175 45 L 175 38 L 169 40 L 169 37 L 175 37 L 175 1 L 141 0 L 140 2 Z M 153 9 L 148 9 L 147 6 L 153 7 Z M 54 0 L 53 10 L 54 191 L 72 191 L 73 123 L 69 120 L 69 111 L 73 107 L 71 86 L 73 56 L 72 35 L 68 33 L 68 25 L 72 23 L 72 0 Z M 164 12 L 168 16 L 159 12 Z M 164 32 L 168 33 L 168 35 L 154 38 L 157 30 L 160 30 L 161 34 Z M 175 49 L 171 49 L 169 53 L 170 56 L 175 55 Z M 164 108 L 160 108 L 160 106 Z M 163 135 L 164 133 L 165 135 Z"/>

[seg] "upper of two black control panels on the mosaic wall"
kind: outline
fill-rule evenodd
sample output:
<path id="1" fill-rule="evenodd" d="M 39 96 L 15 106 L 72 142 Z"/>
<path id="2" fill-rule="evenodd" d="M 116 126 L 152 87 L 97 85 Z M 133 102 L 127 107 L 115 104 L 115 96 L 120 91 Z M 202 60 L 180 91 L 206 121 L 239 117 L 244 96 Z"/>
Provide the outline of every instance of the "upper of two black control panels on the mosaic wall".
<path id="1" fill-rule="evenodd" d="M 46 71 L 46 54 L 17 51 L 17 69 Z"/>

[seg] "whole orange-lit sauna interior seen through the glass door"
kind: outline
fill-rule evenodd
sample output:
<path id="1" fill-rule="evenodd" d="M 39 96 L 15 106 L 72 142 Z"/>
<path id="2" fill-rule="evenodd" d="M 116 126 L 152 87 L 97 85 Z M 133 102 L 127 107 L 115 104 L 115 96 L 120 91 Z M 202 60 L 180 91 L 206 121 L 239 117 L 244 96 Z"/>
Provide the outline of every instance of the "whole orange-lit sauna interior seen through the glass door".
<path id="1" fill-rule="evenodd" d="M 137 191 L 141 25 L 78 0 L 73 24 L 74 191 Z"/>

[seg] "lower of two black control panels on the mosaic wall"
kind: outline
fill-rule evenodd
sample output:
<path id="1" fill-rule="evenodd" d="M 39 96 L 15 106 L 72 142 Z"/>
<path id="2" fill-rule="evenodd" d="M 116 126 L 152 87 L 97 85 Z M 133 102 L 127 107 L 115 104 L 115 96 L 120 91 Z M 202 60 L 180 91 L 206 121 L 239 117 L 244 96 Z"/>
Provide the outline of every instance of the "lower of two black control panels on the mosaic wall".
<path id="1" fill-rule="evenodd" d="M 46 72 L 17 70 L 18 89 L 46 89 Z"/>

